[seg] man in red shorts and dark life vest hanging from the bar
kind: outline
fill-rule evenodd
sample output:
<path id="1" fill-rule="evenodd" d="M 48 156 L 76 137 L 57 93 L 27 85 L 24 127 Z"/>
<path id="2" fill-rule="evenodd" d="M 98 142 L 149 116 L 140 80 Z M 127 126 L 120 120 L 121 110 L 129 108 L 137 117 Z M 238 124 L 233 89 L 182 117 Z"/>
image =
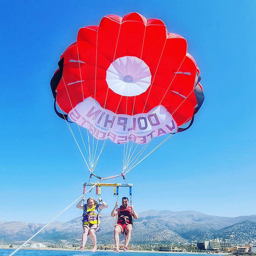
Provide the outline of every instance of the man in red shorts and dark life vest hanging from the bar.
<path id="1" fill-rule="evenodd" d="M 129 204 L 129 200 L 127 197 L 122 198 L 122 205 L 118 208 L 118 201 L 116 201 L 115 207 L 111 212 L 111 216 L 117 216 L 117 223 L 114 228 L 114 240 L 115 240 L 115 248 L 114 252 L 119 253 L 119 233 L 124 234 L 125 237 L 125 245 L 124 252 L 128 250 L 128 244 L 131 239 L 131 230 L 132 230 L 132 217 L 134 219 L 138 219 L 139 215 L 133 209 L 132 203 Z"/>

